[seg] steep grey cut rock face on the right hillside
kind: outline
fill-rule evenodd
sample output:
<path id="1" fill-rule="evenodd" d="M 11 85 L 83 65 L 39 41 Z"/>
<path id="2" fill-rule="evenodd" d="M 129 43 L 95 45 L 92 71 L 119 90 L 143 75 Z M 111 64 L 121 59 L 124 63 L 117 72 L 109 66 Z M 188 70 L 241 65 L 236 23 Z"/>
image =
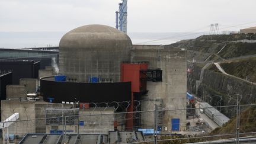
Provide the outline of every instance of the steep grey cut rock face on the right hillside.
<path id="1" fill-rule="evenodd" d="M 210 104 L 215 106 L 235 105 L 237 94 L 239 94 L 239 100 L 241 100 L 240 104 L 255 103 L 256 85 L 209 69 L 204 70 L 203 79 L 201 79 L 201 84 L 198 85 L 201 67 L 193 65 L 191 69 L 193 72 L 188 74 L 187 78 L 188 91 L 197 94 L 198 97 Z M 222 112 L 227 113 L 225 109 Z"/>

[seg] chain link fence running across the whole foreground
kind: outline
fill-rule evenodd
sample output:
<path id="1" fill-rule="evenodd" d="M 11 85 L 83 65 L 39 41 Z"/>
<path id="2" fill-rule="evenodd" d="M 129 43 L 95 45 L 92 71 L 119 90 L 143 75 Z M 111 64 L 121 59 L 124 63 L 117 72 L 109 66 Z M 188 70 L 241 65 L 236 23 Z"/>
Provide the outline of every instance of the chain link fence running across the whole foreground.
<path id="1" fill-rule="evenodd" d="M 255 104 L 196 105 L 175 110 L 155 105 L 152 109 L 114 113 L 115 107 L 48 108 L 46 118 L 1 122 L 2 140 L 4 143 L 191 143 L 235 140 L 256 133 Z M 194 116 L 181 117 L 191 110 Z M 230 120 L 221 113 L 227 110 L 235 113 Z"/>

